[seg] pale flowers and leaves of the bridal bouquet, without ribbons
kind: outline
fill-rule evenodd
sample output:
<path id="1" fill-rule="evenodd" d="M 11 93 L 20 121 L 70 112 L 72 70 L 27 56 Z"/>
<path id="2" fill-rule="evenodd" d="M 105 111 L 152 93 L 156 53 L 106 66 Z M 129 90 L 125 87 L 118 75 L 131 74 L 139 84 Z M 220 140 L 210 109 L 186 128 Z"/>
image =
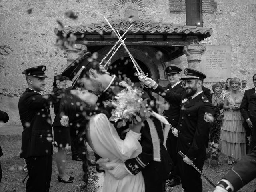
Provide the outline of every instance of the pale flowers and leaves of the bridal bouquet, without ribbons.
<path id="1" fill-rule="evenodd" d="M 138 88 L 132 88 L 126 82 L 119 83 L 124 87 L 115 97 L 116 100 L 112 101 L 115 107 L 112 110 L 112 117 L 110 121 L 118 122 L 117 127 L 120 128 L 126 125 L 126 122 L 137 123 L 141 122 L 141 117 L 148 118 L 151 115 L 148 109 L 147 100 L 142 98 L 142 91 Z"/>

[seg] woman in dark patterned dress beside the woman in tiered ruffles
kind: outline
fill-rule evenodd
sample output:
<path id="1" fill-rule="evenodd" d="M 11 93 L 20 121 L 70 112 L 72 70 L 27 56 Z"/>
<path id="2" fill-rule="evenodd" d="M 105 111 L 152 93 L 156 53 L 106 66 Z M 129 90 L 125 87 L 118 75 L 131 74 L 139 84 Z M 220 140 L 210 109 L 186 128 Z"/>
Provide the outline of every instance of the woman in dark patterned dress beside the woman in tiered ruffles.
<path id="1" fill-rule="evenodd" d="M 222 86 L 216 83 L 212 86 L 212 106 L 214 108 L 214 121 L 210 127 L 210 142 L 214 148 L 218 148 L 220 139 L 220 128 L 222 125 L 222 118 L 220 116 L 220 109 L 223 107 L 223 102 L 220 101 L 220 93 Z"/>

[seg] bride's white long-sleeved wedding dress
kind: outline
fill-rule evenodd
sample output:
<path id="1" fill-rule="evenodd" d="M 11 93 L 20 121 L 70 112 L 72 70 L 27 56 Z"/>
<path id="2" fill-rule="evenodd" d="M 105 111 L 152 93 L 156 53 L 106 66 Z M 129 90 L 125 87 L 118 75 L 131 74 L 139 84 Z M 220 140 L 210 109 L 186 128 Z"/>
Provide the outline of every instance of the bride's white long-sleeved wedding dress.
<path id="1" fill-rule="evenodd" d="M 88 144 L 96 154 L 110 161 L 124 162 L 135 158 L 142 152 L 138 138 L 140 134 L 129 131 L 121 140 L 114 126 L 105 114 L 96 114 L 90 118 L 87 132 Z M 128 174 L 117 180 L 105 170 L 103 192 L 144 192 L 145 184 L 142 173 Z"/>

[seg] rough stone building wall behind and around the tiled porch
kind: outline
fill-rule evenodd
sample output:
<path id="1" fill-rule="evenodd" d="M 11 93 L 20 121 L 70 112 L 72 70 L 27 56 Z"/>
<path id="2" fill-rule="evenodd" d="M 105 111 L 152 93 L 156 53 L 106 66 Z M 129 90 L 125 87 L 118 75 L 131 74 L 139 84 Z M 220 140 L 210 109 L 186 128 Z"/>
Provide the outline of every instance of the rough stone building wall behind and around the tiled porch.
<path id="1" fill-rule="evenodd" d="M 22 71 L 42 64 L 49 76 L 45 92 L 52 90 L 53 76 L 67 66 L 67 53 L 54 45 L 54 28 L 60 27 L 57 20 L 64 26 L 76 26 L 104 21 L 104 16 L 117 19 L 133 15 L 185 25 L 184 4 L 185 0 L 0 0 L 0 94 L 19 97 L 26 88 Z M 213 29 L 208 40 L 213 45 L 231 46 L 232 76 L 246 79 L 253 87 L 255 0 L 202 0 L 202 9 L 203 26 Z M 64 13 L 68 10 L 78 18 L 67 18 Z M 183 55 L 174 62 L 185 68 L 186 59 Z"/>

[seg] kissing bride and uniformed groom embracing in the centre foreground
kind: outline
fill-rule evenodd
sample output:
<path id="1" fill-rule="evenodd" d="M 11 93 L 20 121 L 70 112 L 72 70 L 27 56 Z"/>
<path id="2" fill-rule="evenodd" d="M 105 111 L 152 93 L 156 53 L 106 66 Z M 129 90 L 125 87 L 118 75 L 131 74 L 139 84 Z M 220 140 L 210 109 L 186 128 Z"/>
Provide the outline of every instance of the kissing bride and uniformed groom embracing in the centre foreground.
<path id="1" fill-rule="evenodd" d="M 92 166 L 87 142 L 96 154 L 97 164 L 104 170 L 103 192 L 164 192 L 171 159 L 164 147 L 161 122 L 150 116 L 160 140 L 161 158 L 156 161 L 146 118 L 122 127 L 109 120 L 114 109 L 111 101 L 124 89 L 120 79 L 110 76 L 91 58 L 90 52 L 72 62 L 62 76 L 73 82 L 73 89 L 61 99 L 60 111 L 62 117 L 67 118 L 65 126 L 70 127 L 75 143 L 82 149 L 84 187 L 88 184 L 88 166 Z M 142 91 L 142 98 L 147 99 L 148 106 L 157 113 L 140 84 L 134 86 Z"/>

